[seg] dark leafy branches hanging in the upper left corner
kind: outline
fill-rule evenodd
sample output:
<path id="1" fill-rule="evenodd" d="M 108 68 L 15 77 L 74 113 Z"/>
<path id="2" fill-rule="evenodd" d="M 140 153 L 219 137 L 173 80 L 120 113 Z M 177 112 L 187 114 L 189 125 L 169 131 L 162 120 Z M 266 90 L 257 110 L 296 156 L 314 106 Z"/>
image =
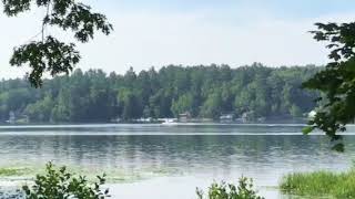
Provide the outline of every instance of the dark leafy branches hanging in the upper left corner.
<path id="1" fill-rule="evenodd" d="M 3 12 L 16 17 L 31 9 L 32 0 L 2 0 Z M 64 31 L 74 32 L 74 38 L 82 43 L 93 39 L 94 32 L 110 34 L 113 30 L 105 15 L 91 11 L 91 8 L 75 0 L 37 0 L 34 4 L 47 10 L 42 20 L 42 40 L 31 41 L 16 48 L 10 60 L 11 65 L 28 64 L 31 67 L 29 81 L 36 87 L 42 85 L 42 74 L 52 76 L 69 74 L 80 61 L 74 43 L 63 43 L 52 35 L 45 35 L 48 25 L 55 25 Z"/>

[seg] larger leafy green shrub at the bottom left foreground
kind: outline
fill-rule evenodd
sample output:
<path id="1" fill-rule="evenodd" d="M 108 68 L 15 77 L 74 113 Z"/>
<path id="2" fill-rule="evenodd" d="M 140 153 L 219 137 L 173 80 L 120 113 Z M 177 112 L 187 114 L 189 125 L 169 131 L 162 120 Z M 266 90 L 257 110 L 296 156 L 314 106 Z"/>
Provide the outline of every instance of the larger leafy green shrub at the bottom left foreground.
<path id="1" fill-rule="evenodd" d="M 65 167 L 55 168 L 52 163 L 45 165 L 45 174 L 37 175 L 32 187 L 23 186 L 27 199 L 104 199 L 109 190 L 101 190 L 105 175 L 98 176 L 97 182 L 89 182 L 85 177 L 74 177 Z"/>

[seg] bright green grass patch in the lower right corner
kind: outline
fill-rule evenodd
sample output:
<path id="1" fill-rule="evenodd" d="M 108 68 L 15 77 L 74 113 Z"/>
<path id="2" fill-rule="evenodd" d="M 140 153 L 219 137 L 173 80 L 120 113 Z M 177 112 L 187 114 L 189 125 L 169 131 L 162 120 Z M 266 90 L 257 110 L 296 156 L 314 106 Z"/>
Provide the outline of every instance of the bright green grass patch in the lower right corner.
<path id="1" fill-rule="evenodd" d="M 287 195 L 311 198 L 355 199 L 355 169 L 346 172 L 314 171 L 290 174 L 282 179 L 281 190 Z"/>

